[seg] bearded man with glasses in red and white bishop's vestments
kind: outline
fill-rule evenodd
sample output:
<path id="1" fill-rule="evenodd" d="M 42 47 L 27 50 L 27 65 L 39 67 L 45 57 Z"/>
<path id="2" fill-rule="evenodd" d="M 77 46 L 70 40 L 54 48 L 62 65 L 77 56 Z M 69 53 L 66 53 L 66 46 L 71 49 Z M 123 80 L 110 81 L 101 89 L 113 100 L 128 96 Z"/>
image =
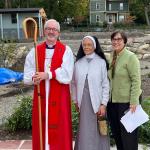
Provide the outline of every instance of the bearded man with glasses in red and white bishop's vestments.
<path id="1" fill-rule="evenodd" d="M 72 150 L 69 83 L 74 58 L 70 47 L 57 41 L 60 26 L 56 20 L 50 19 L 45 23 L 44 33 L 46 41 L 37 45 L 38 72 L 34 48 L 27 55 L 24 67 L 25 84 L 34 84 L 32 149 L 41 150 L 37 92 L 39 85 L 43 150 Z"/>

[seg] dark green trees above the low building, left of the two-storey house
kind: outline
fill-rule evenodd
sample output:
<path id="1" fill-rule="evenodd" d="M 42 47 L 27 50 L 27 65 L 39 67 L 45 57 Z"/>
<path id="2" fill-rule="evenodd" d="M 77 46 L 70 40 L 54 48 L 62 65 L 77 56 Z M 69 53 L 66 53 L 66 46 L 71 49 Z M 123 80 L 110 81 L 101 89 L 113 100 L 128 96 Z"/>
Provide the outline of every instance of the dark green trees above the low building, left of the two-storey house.
<path id="1" fill-rule="evenodd" d="M 42 7 L 48 18 L 64 22 L 67 18 L 74 18 L 78 21 L 87 18 L 88 3 L 89 0 L 3 0 L 3 3 L 0 2 L 0 7 Z"/>

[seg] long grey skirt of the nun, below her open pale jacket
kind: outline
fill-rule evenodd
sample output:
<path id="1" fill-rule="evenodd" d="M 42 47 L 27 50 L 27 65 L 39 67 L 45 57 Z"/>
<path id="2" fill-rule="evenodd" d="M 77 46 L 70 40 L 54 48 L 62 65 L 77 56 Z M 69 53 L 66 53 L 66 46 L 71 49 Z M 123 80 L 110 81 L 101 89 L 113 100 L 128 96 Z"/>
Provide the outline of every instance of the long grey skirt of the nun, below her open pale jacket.
<path id="1" fill-rule="evenodd" d="M 85 81 L 80 119 L 74 150 L 110 150 L 108 136 L 100 136 L 97 115 L 91 104 L 88 81 Z"/>

